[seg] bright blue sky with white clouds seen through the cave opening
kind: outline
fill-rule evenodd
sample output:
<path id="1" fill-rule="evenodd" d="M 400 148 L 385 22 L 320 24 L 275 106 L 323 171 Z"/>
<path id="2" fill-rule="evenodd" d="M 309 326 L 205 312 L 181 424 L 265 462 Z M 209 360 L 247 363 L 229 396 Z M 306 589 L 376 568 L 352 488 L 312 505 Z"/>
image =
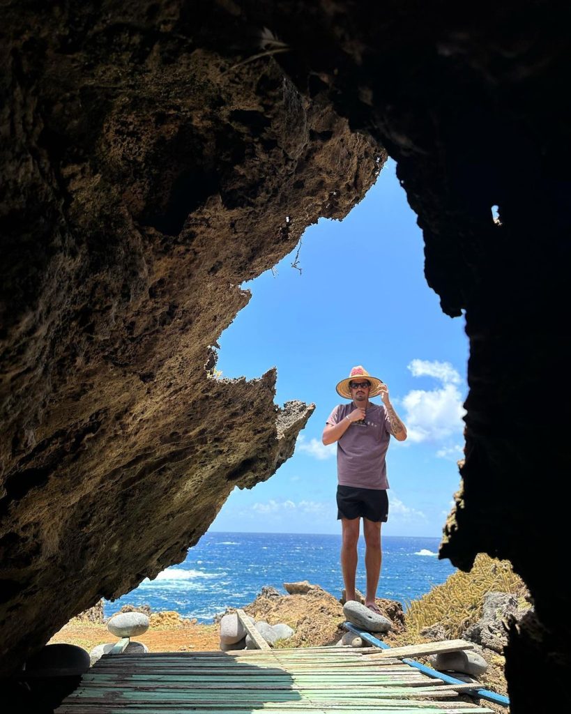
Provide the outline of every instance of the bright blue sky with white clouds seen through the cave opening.
<path id="1" fill-rule="evenodd" d="M 210 530 L 340 533 L 336 446 L 321 434 L 343 401 L 336 383 L 361 364 L 388 385 L 409 433 L 391 439 L 383 534 L 440 537 L 460 483 L 468 339 L 425 281 L 422 233 L 393 161 L 347 218 L 305 231 L 301 273 L 296 252 L 243 283 L 251 301 L 219 340 L 218 369 L 256 378 L 276 366 L 276 403 L 315 411 L 293 457 L 266 483 L 235 488 Z"/>

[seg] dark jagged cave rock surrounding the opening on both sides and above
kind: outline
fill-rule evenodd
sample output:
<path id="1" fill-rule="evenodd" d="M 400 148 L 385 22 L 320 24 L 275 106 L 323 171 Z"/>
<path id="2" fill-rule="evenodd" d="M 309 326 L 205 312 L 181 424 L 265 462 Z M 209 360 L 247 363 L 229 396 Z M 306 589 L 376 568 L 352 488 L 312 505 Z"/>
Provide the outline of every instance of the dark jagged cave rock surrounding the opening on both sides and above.
<path id="1" fill-rule="evenodd" d="M 465 569 L 480 551 L 512 561 L 535 600 L 510 633 L 512 711 L 569 708 L 553 682 L 571 672 L 557 389 L 570 14 L 549 1 L 6 5 L 4 663 L 180 559 L 234 484 L 291 452 L 310 406 L 276 411 L 273 373 L 208 378 L 208 346 L 247 302 L 239 283 L 318 216 L 344 216 L 386 149 L 428 283 L 470 338 L 441 554 Z"/>

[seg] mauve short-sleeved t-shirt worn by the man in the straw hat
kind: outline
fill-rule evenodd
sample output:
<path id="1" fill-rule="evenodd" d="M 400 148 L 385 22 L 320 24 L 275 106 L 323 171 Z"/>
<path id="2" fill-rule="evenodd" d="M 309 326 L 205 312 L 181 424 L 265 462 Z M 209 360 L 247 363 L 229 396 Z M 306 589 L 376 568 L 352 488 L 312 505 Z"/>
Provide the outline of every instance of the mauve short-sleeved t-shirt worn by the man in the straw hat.
<path id="1" fill-rule="evenodd" d="M 335 426 L 348 416 L 353 402 L 338 404 L 327 419 Z M 385 455 L 390 441 L 390 422 L 384 406 L 369 402 L 364 421 L 353 422 L 337 442 L 337 476 L 340 486 L 389 488 Z"/>

